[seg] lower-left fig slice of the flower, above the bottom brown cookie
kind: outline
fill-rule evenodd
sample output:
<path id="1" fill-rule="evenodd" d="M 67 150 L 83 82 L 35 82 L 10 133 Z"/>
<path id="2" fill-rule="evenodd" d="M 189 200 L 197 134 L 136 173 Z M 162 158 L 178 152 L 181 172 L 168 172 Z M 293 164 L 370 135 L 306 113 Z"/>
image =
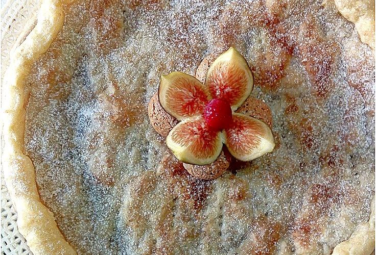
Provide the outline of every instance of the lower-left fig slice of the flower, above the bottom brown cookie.
<path id="1" fill-rule="evenodd" d="M 213 163 L 222 151 L 222 133 L 208 129 L 202 116 L 186 118 L 170 131 L 167 146 L 180 161 L 193 165 Z"/>

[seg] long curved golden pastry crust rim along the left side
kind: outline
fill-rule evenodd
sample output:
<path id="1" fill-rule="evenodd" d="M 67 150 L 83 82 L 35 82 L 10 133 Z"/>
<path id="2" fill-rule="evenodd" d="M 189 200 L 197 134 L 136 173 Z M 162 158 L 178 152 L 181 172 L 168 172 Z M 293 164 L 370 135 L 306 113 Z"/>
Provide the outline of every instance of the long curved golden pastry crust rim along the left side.
<path id="1" fill-rule="evenodd" d="M 77 254 L 57 228 L 54 215 L 39 198 L 35 169 L 24 155 L 25 79 L 31 62 L 43 54 L 64 22 L 62 5 L 68 1 L 43 1 L 35 28 L 11 55 L 6 73 L 4 106 L 4 177 L 17 210 L 19 232 L 34 254 Z"/>

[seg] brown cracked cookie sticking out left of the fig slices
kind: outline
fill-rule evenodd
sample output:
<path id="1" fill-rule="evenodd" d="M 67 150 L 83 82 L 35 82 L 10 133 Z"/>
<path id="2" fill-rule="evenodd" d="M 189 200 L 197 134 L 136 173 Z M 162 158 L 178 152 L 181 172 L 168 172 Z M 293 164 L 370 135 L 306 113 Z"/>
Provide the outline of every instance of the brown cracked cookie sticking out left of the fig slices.
<path id="1" fill-rule="evenodd" d="M 172 128 L 179 122 L 159 104 L 158 92 L 150 98 L 148 115 L 153 129 L 162 137 L 167 137 Z"/>

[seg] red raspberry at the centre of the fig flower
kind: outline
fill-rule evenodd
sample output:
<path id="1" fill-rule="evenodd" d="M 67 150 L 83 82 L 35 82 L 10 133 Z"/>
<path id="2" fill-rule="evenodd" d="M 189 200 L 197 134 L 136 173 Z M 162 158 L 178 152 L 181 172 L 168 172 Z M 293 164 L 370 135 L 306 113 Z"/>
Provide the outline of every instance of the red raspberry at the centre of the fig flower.
<path id="1" fill-rule="evenodd" d="M 204 118 L 213 130 L 226 129 L 232 123 L 231 106 L 226 100 L 214 98 L 205 106 Z"/>

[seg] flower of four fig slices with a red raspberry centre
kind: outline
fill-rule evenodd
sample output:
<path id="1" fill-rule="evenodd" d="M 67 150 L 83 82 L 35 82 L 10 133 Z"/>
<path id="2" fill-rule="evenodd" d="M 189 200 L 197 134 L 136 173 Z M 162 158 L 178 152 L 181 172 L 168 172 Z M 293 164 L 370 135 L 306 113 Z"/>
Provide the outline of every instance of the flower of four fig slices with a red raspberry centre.
<path id="1" fill-rule="evenodd" d="M 186 164 L 210 165 L 221 154 L 223 143 L 241 161 L 272 151 L 274 139 L 269 126 L 234 112 L 249 97 L 252 88 L 252 71 L 232 47 L 209 67 L 205 84 L 181 72 L 162 75 L 159 103 L 167 113 L 181 120 L 166 137 L 166 145 L 175 157 Z M 212 169 L 186 166 L 200 176 Z M 212 170 L 210 178 L 220 174 Z"/>

